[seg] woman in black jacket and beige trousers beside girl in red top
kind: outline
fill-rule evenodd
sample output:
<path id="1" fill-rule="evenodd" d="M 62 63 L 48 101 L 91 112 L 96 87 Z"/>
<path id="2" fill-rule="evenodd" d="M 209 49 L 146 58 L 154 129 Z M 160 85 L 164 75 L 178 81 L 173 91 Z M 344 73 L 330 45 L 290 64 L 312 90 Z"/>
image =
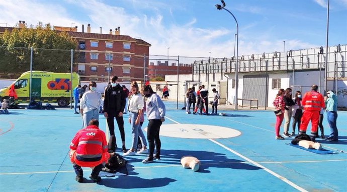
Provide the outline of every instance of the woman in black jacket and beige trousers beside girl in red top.
<path id="1" fill-rule="evenodd" d="M 289 124 L 290 124 L 290 119 L 292 118 L 293 115 L 293 108 L 292 106 L 295 105 L 293 99 L 292 99 L 292 89 L 291 88 L 287 88 L 286 89 L 286 95 L 283 97 L 283 101 L 285 104 L 284 107 L 284 118 L 285 118 L 285 123 L 284 123 L 284 132 L 283 135 L 285 137 L 290 137 L 288 134 L 288 130 L 289 130 Z"/>

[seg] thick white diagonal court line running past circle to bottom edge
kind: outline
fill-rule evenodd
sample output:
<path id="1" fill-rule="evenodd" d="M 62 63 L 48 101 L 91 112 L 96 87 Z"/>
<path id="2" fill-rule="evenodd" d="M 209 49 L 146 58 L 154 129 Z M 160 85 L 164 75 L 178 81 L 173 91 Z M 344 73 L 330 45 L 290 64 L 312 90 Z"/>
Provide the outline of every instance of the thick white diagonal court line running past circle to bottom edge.
<path id="1" fill-rule="evenodd" d="M 181 123 L 179 123 L 179 122 L 177 122 L 177 121 L 175 121 L 175 120 L 173 120 L 173 119 L 171 119 L 171 118 L 169 118 L 169 117 L 166 117 L 166 118 L 169 119 L 169 120 L 171 120 L 171 121 L 173 121 L 173 122 L 176 122 L 176 123 L 178 123 L 178 124 L 181 124 Z M 236 122 L 237 122 L 237 121 L 236 121 Z M 245 123 L 242 123 L 242 124 L 245 124 Z M 251 125 L 251 126 L 252 126 L 252 125 Z M 261 127 L 257 127 L 257 128 L 258 128 L 258 129 L 265 130 L 265 129 L 261 128 Z M 266 130 L 266 131 L 269 131 L 269 130 Z M 251 164 L 253 164 L 253 165 L 257 166 L 257 167 L 260 167 L 260 168 L 264 169 L 264 170 L 267 171 L 268 173 L 270 173 L 270 174 L 274 175 L 275 177 L 281 179 L 282 181 L 284 181 L 284 182 L 286 182 L 287 184 L 291 185 L 291 186 L 294 187 L 295 189 L 297 189 L 297 190 L 299 190 L 299 191 L 307 191 L 307 190 L 305 190 L 304 188 L 300 187 L 299 185 L 297 185 L 297 184 L 293 183 L 292 181 L 288 180 L 287 178 L 285 178 L 285 177 L 283 177 L 283 176 L 281 176 L 281 175 L 275 173 L 274 171 L 272 171 L 272 170 L 270 170 L 270 169 L 264 167 L 263 165 L 261 165 L 261 164 L 255 162 L 255 161 L 253 161 L 253 160 L 251 160 L 251 159 L 249 159 L 249 158 L 247 158 L 247 157 L 241 155 L 240 153 L 238 153 L 238 152 L 236 152 L 236 151 L 234 151 L 234 150 L 232 150 L 232 149 L 226 147 L 225 145 L 223 145 L 223 144 L 221 144 L 221 143 L 219 143 L 219 142 L 217 142 L 217 141 L 215 141 L 215 140 L 213 140 L 213 139 L 208 139 L 208 140 L 210 140 L 210 141 L 212 141 L 213 143 L 215 143 L 215 144 L 217 144 L 217 145 L 223 147 L 224 149 L 230 151 L 231 153 L 233 153 L 233 154 L 235 154 L 235 155 L 241 157 L 242 159 L 244 159 L 244 160 L 246 160 L 246 161 L 249 161 Z M 308 192 L 308 191 L 307 191 L 307 192 Z"/>

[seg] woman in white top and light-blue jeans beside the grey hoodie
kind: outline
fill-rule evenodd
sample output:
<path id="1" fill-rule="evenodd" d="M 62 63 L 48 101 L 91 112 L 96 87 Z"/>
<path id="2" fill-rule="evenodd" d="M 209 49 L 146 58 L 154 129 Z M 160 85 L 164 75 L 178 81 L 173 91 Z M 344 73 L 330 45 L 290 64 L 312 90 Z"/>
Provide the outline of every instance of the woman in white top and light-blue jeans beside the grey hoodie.
<path id="1" fill-rule="evenodd" d="M 137 152 L 137 154 L 147 154 L 147 143 L 146 138 L 143 135 L 140 119 L 141 114 L 143 113 L 143 98 L 139 92 L 139 86 L 136 81 L 131 82 L 130 91 L 132 93 L 129 102 L 128 102 L 128 111 L 129 111 L 129 123 L 131 124 L 131 134 L 132 134 L 132 144 L 129 151 L 123 153 L 123 156 L 135 155 L 135 150 L 137 149 L 137 140 L 138 136 L 140 136 L 140 140 L 142 143 L 142 149 Z"/>

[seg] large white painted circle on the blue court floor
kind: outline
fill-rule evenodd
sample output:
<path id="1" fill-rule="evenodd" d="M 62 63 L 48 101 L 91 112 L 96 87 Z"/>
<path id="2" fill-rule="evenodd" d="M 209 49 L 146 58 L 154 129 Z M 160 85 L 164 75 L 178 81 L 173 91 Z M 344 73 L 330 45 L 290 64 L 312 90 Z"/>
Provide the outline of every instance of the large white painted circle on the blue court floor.
<path id="1" fill-rule="evenodd" d="M 145 128 L 147 132 L 147 127 Z M 205 124 L 163 124 L 160 136 L 190 139 L 223 139 L 240 136 L 241 132 L 223 126 Z"/>

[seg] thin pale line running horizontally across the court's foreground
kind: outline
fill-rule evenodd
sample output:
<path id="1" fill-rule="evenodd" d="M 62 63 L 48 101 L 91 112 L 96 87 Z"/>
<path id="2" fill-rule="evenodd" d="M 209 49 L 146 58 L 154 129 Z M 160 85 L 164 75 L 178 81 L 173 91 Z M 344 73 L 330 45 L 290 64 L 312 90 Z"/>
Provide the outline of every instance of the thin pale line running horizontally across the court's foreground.
<path id="1" fill-rule="evenodd" d="M 218 162 L 218 163 L 202 163 L 201 165 L 218 165 L 218 164 L 237 164 L 237 163 L 267 163 L 267 164 L 283 164 L 283 163 L 320 163 L 320 162 L 335 162 L 335 161 L 347 161 L 347 159 L 337 160 L 321 160 L 321 161 L 242 161 L 242 162 Z M 162 160 L 165 162 L 165 160 Z M 145 167 L 132 167 L 134 169 L 147 169 L 147 168 L 162 168 L 162 167 L 181 167 L 182 165 L 158 165 L 158 166 L 145 166 Z M 92 170 L 89 170 L 92 171 Z M 24 175 L 24 174 L 45 174 L 45 173 L 72 173 L 74 171 L 42 171 L 42 172 L 18 172 L 18 173 L 0 173 L 0 175 Z"/>

